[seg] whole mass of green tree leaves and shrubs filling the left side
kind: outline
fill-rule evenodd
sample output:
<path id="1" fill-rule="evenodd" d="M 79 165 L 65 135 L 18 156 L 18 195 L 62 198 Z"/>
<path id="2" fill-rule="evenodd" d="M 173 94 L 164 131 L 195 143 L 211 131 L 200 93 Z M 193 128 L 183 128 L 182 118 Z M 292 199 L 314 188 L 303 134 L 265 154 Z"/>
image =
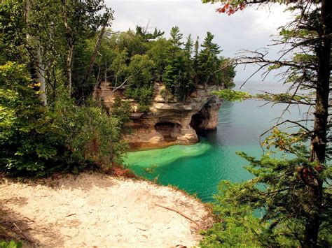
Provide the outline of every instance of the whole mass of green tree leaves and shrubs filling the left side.
<path id="1" fill-rule="evenodd" d="M 1 173 L 44 176 L 119 162 L 127 146 L 121 140 L 121 130 L 130 115 L 129 103 L 118 103 L 109 117 L 101 103 L 90 100 L 99 84 L 100 68 L 94 68 L 90 79 L 81 83 L 95 50 L 98 29 L 111 20 L 111 10 L 99 0 L 31 1 L 26 22 L 25 3 L 0 3 Z M 34 43 L 28 44 L 27 36 L 34 36 Z M 75 99 L 69 98 L 64 87 L 68 45 L 75 45 Z M 48 106 L 41 105 L 40 83 L 30 71 L 36 63 L 32 54 L 36 48 L 45 65 Z M 127 53 L 106 45 L 102 49 L 107 53 L 103 59 L 114 60 L 103 69 L 119 71 L 116 77 L 120 82 L 128 68 Z M 95 61 L 100 66 L 102 59 Z"/>

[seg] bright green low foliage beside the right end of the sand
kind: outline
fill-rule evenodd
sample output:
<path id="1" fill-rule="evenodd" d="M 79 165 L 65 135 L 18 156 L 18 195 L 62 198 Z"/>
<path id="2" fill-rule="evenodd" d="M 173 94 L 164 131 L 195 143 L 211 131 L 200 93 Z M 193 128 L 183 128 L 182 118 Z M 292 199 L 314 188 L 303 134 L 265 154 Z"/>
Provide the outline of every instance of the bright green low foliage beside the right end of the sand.
<path id="1" fill-rule="evenodd" d="M 260 247 L 258 239 L 268 225 L 254 217 L 254 211 L 247 205 L 237 205 L 236 196 L 240 185 L 221 181 L 219 192 L 214 196 L 214 212 L 218 221 L 212 228 L 202 231 L 204 239 L 200 247 Z"/>

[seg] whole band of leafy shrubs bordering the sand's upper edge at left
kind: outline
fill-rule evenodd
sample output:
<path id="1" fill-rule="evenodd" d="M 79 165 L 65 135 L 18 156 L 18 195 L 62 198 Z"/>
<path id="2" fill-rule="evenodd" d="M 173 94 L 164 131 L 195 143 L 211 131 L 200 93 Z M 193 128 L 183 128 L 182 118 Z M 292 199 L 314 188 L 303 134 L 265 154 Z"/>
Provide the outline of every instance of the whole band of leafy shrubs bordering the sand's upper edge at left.
<path id="1" fill-rule="evenodd" d="M 109 117 L 101 104 L 78 106 L 60 88 L 53 108 L 41 106 L 25 66 L 0 66 L 0 170 L 44 176 L 109 167 L 120 161 L 125 117 Z M 119 112 L 119 111 L 118 111 Z"/>

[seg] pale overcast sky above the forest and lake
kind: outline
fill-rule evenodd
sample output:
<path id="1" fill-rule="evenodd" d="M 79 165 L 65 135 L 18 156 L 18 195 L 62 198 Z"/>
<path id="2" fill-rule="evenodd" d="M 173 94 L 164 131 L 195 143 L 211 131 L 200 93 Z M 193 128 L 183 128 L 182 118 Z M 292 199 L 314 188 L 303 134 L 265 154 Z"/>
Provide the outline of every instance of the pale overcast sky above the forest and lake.
<path id="1" fill-rule="evenodd" d="M 277 34 L 277 28 L 289 20 L 289 13 L 284 13 L 284 6 L 274 4 L 267 8 L 247 8 L 234 15 L 216 13 L 218 3 L 202 4 L 200 0 L 106 0 L 113 8 L 115 20 L 114 31 L 134 29 L 137 24 L 146 26 L 153 31 L 154 27 L 165 31 L 168 37 L 170 29 L 180 27 L 185 36 L 192 34 L 203 41 L 207 31 L 214 34 L 214 41 L 223 49 L 222 55 L 234 57 L 242 49 L 256 50 L 271 44 L 271 35 Z M 271 56 L 277 56 L 276 48 L 270 47 Z M 245 80 L 253 71 L 252 66 L 237 68 L 235 80 Z M 256 75 L 254 80 L 261 80 Z M 274 77 L 268 78 L 274 81 Z"/>

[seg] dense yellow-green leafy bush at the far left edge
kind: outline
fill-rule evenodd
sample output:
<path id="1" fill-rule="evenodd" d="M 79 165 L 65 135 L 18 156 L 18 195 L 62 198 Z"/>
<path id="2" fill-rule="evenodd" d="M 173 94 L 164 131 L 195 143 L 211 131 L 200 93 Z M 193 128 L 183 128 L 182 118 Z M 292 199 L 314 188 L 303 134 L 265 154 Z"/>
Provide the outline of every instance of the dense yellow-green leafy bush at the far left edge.
<path id="1" fill-rule="evenodd" d="M 43 175 L 60 145 L 25 66 L 0 66 L 0 168 L 8 173 Z"/>

